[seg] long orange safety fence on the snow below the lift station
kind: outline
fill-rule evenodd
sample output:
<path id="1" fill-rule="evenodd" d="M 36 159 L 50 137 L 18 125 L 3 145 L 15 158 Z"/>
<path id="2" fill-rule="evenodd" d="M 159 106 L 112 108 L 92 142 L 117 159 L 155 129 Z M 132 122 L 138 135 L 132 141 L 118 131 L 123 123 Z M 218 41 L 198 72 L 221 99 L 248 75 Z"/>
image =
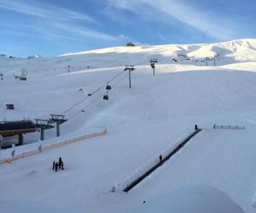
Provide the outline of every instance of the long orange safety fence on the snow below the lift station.
<path id="1" fill-rule="evenodd" d="M 58 142 L 58 143 L 50 144 L 46 147 L 42 147 L 41 151 L 38 150 L 38 149 L 37 150 L 31 150 L 31 151 L 27 151 L 25 153 L 18 154 L 14 158 L 0 159 L 0 164 L 11 164 L 14 160 L 17 160 L 17 159 L 20 159 L 20 158 L 26 158 L 28 156 L 32 156 L 32 155 L 35 155 L 37 153 L 42 153 L 44 151 L 51 150 L 51 149 L 54 149 L 56 147 L 62 147 L 62 146 L 67 145 L 69 143 L 78 142 L 78 141 L 82 141 L 84 139 L 89 139 L 89 138 L 93 138 L 93 137 L 97 137 L 97 136 L 106 135 L 107 133 L 108 133 L 108 131 L 104 130 L 104 131 L 99 132 L 99 133 L 93 133 L 93 134 L 90 134 L 90 135 L 83 135 L 83 136 L 75 137 L 75 138 L 72 138 L 72 139 L 67 139 L 66 141 L 61 141 L 61 142 Z"/>

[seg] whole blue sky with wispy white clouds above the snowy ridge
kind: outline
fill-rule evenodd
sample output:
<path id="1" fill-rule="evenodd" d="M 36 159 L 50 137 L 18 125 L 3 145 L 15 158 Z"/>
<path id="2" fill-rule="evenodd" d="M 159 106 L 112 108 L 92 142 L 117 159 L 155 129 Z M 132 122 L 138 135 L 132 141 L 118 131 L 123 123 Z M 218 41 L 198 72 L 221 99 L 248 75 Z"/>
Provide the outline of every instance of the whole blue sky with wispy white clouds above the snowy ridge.
<path id="1" fill-rule="evenodd" d="M 0 54 L 256 37 L 255 0 L 0 0 Z"/>

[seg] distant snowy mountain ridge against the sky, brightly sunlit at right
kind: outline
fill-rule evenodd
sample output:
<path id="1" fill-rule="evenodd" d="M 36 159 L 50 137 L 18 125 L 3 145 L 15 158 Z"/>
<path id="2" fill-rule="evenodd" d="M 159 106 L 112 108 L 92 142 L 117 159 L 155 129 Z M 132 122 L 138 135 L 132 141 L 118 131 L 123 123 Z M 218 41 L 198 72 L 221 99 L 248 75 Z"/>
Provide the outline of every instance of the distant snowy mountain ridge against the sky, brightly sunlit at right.
<path id="1" fill-rule="evenodd" d="M 67 72 L 79 71 L 86 68 L 106 68 L 132 64 L 135 66 L 147 65 L 151 58 L 157 58 L 160 64 L 176 64 L 177 59 L 182 64 L 191 64 L 192 60 L 197 66 L 204 66 L 206 57 L 213 58 L 218 55 L 216 64 L 226 65 L 237 62 L 256 60 L 256 39 L 241 39 L 225 43 L 213 44 L 172 44 L 158 46 L 116 47 L 96 49 L 73 54 L 60 55 L 54 58 L 31 57 L 26 59 L 0 57 L 0 66 L 3 72 L 27 71 L 40 72 Z M 191 60 L 186 60 L 177 55 L 187 55 Z M 193 59 L 194 58 L 194 59 Z M 180 61 L 179 61 L 180 60 Z M 195 60 L 199 60 L 195 62 Z M 213 60 L 208 62 L 213 65 Z"/>

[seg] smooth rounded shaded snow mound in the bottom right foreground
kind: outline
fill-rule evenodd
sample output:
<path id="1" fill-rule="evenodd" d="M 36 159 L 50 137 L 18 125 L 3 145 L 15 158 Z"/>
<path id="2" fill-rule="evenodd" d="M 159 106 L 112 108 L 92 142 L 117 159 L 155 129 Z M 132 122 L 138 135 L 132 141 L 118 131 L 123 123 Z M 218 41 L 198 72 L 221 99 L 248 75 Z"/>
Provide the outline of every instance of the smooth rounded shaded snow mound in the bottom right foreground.
<path id="1" fill-rule="evenodd" d="M 129 213 L 244 213 L 229 195 L 207 185 L 182 187 L 147 200 Z M 128 213 L 127 212 L 127 213 Z"/>

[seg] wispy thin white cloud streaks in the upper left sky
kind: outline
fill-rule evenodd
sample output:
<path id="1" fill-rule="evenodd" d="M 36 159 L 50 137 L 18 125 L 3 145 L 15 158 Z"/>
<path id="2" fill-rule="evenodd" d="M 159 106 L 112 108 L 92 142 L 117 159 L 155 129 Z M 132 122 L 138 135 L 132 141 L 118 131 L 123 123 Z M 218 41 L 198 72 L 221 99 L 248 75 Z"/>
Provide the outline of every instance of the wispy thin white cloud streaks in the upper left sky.
<path id="1" fill-rule="evenodd" d="M 73 40 L 84 39 L 84 41 L 86 41 L 86 39 L 112 42 L 122 40 L 119 36 L 112 36 L 108 33 L 93 30 L 91 29 L 91 25 L 87 27 L 86 23 L 97 24 L 98 26 L 101 26 L 101 24 L 90 15 L 81 14 L 71 9 L 16 0 L 0 0 L 0 9 L 12 10 L 35 18 L 26 20 L 26 24 L 16 25 L 16 23 L 13 23 L 9 25 L 14 31 L 15 29 L 19 29 L 20 32 L 23 31 L 24 35 L 29 32 L 36 32 L 38 36 L 48 40 L 57 37 L 73 37 Z M 8 21 L 11 20 L 7 20 L 7 24 Z"/>

